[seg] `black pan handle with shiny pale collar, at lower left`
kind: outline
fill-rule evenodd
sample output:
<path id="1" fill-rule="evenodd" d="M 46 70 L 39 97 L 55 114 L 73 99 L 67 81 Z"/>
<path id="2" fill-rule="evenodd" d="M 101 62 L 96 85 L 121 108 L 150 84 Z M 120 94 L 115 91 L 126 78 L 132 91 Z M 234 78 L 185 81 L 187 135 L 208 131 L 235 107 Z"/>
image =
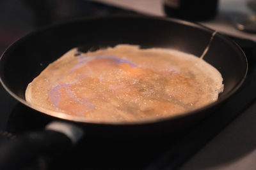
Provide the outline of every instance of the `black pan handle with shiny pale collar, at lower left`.
<path id="1" fill-rule="evenodd" d="M 0 169 L 22 169 L 40 155 L 65 153 L 83 137 L 76 125 L 51 122 L 45 131 L 27 132 L 0 145 Z"/>

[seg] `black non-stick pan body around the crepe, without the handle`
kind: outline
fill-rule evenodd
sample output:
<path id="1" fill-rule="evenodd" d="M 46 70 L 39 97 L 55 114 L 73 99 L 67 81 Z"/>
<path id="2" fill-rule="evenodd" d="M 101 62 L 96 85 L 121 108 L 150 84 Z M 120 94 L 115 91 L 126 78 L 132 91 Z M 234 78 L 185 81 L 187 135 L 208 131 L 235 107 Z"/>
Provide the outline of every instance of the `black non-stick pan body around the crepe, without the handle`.
<path id="1" fill-rule="evenodd" d="M 236 43 L 202 25 L 159 17 L 101 17 L 76 20 L 46 27 L 19 39 L 4 52 L 0 60 L 0 78 L 4 88 L 21 103 L 29 82 L 51 62 L 71 48 L 96 50 L 117 44 L 140 45 L 142 48 L 174 48 L 200 57 L 216 67 L 223 76 L 224 91 L 216 103 L 185 115 L 131 124 L 98 124 L 77 117 L 51 117 L 71 120 L 102 134 L 106 132 L 140 133 L 177 131 L 205 117 L 240 87 L 247 73 L 247 60 Z M 25 113 L 24 113 L 25 114 Z M 35 111 L 38 114 L 38 111 Z"/>

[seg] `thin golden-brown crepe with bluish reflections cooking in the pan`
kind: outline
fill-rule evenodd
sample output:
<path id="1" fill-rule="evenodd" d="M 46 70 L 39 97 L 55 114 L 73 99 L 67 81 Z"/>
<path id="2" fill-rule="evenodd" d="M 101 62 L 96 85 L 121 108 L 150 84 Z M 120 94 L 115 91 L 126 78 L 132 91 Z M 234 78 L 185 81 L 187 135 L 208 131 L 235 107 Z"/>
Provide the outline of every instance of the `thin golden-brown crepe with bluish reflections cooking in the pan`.
<path id="1" fill-rule="evenodd" d="M 81 53 L 73 48 L 29 83 L 26 101 L 86 122 L 154 120 L 213 103 L 222 81 L 216 68 L 177 50 L 116 45 Z"/>

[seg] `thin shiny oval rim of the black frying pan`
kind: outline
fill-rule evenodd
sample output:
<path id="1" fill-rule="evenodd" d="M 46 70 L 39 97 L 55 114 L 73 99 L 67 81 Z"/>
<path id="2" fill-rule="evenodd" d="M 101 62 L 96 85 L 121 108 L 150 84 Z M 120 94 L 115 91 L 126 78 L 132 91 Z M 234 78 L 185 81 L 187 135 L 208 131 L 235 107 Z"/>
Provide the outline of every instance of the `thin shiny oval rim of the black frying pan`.
<path id="1" fill-rule="evenodd" d="M 63 23 L 59 23 L 59 24 L 47 25 L 40 29 L 36 29 L 35 31 L 31 31 L 29 34 L 26 34 L 26 35 L 20 37 L 19 39 L 14 41 L 10 46 L 8 46 L 8 48 L 6 48 L 6 50 L 4 50 L 3 54 L 1 55 L 0 62 L 3 59 L 5 53 L 8 52 L 10 50 L 10 48 L 15 46 L 17 43 L 20 43 L 20 41 L 28 38 L 29 36 L 33 36 L 34 34 L 38 34 L 39 32 L 43 32 L 47 29 L 53 29 L 54 27 L 64 27 L 65 25 L 74 24 L 76 22 L 86 22 L 86 21 L 90 21 L 90 20 L 102 20 L 102 19 L 108 19 L 108 18 L 110 18 L 110 19 L 115 19 L 115 18 L 123 18 L 123 19 L 124 18 L 140 18 L 140 19 L 143 19 L 143 18 L 145 18 L 145 19 L 149 19 L 149 20 L 163 20 L 166 22 L 175 22 L 175 23 L 182 24 L 182 25 L 188 25 L 190 27 L 196 27 L 198 29 L 202 29 L 204 31 L 208 31 L 211 33 L 214 32 L 214 30 L 209 29 L 208 27 L 205 27 L 202 24 L 198 24 L 196 22 L 188 22 L 185 20 L 177 19 L 177 18 L 155 17 L 155 16 L 145 16 L 145 15 L 108 15 L 108 16 L 100 16 L 100 17 L 86 17 L 86 18 L 79 18 L 76 20 L 70 20 L 68 22 L 63 22 Z M 4 81 L 1 78 L 1 75 L 0 75 L 0 82 L 3 85 L 4 89 L 20 103 L 24 104 L 25 106 L 28 106 L 29 108 L 32 108 L 35 111 L 40 112 L 42 114 L 49 115 L 49 116 L 55 117 L 55 118 L 60 118 L 62 120 L 68 120 L 68 121 L 83 123 L 83 124 L 98 124 L 98 125 L 143 125 L 143 124 L 155 124 L 155 123 L 159 123 L 159 122 L 169 122 L 171 120 L 177 120 L 177 119 L 184 118 L 184 117 L 190 117 L 192 115 L 200 113 L 201 111 L 209 110 L 209 108 L 213 108 L 217 104 L 223 103 L 223 101 L 226 101 L 228 98 L 230 98 L 243 84 L 243 82 L 246 78 L 246 75 L 248 73 L 248 60 L 246 58 L 246 55 L 244 54 L 242 48 L 239 45 L 237 45 L 237 43 L 235 41 L 233 41 L 232 39 L 228 38 L 227 36 L 223 36 L 218 32 L 217 32 L 216 36 L 219 36 L 221 39 L 225 39 L 225 40 L 229 41 L 230 43 L 232 43 L 232 45 L 234 45 L 234 47 L 236 47 L 239 50 L 239 52 L 241 52 L 241 55 L 243 55 L 243 59 L 245 61 L 244 64 L 246 67 L 246 70 L 244 70 L 243 78 L 241 78 L 241 80 L 237 81 L 234 88 L 232 90 L 230 90 L 230 92 L 228 92 L 228 94 L 225 97 L 218 99 L 218 101 L 211 103 L 211 104 L 207 104 L 206 106 L 204 106 L 202 108 L 198 108 L 197 110 L 188 111 L 188 112 L 182 113 L 180 115 L 175 115 L 175 116 L 171 116 L 171 117 L 156 118 L 156 119 L 152 119 L 152 120 L 151 119 L 150 120 L 138 120 L 138 121 L 132 121 L 132 122 L 88 121 L 88 120 L 85 120 L 84 117 L 78 117 L 78 116 L 74 116 L 74 115 L 71 116 L 71 115 L 67 115 L 65 113 L 59 113 L 56 111 L 51 111 L 51 113 L 49 113 L 49 111 L 45 111 L 42 108 L 37 108 L 35 106 L 32 106 L 31 104 L 27 103 L 26 100 L 22 99 L 21 97 L 17 96 L 17 94 L 12 92 L 12 90 L 10 90 L 5 85 Z"/>

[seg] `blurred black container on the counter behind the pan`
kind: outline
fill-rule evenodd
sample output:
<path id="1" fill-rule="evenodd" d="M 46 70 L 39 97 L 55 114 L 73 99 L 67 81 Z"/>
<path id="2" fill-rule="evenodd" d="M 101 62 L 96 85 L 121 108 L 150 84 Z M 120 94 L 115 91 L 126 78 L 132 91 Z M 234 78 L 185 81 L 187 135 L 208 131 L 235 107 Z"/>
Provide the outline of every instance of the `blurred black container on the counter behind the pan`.
<path id="1" fill-rule="evenodd" d="M 215 17 L 218 0 L 164 0 L 163 6 L 169 17 L 203 21 Z"/>

